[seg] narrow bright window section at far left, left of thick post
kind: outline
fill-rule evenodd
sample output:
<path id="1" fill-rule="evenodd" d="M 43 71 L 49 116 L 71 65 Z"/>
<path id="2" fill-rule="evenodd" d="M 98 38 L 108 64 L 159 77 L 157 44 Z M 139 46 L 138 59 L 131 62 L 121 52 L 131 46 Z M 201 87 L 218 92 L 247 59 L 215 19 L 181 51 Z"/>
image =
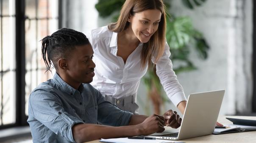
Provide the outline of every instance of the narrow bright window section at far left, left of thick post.
<path id="1" fill-rule="evenodd" d="M 15 3 L 0 1 L 0 125 L 15 123 Z"/>

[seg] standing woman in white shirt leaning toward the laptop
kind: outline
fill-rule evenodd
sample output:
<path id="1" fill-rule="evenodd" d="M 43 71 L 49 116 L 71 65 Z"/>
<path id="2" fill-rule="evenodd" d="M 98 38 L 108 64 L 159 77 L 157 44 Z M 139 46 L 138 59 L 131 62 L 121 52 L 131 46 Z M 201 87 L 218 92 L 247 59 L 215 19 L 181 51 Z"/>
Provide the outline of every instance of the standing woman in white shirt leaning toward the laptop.
<path id="1" fill-rule="evenodd" d="M 153 62 L 167 96 L 184 113 L 186 97 L 172 69 L 165 32 L 162 0 L 126 0 L 117 22 L 89 34 L 97 65 L 92 85 L 112 104 L 137 114 L 139 82 Z"/>

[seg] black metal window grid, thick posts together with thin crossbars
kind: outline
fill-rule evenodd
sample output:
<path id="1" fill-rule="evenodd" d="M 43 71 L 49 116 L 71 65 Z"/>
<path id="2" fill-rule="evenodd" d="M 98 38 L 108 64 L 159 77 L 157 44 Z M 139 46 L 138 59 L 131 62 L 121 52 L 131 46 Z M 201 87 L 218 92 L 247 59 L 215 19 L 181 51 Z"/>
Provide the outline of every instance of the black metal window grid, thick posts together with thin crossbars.
<path id="1" fill-rule="evenodd" d="M 3 17 L 15 17 L 15 42 L 16 42 L 16 122 L 14 124 L 6 124 L 3 125 L 0 123 L 0 129 L 9 128 L 9 127 L 16 127 L 16 126 L 24 126 L 28 125 L 27 119 L 28 116 L 25 115 L 25 74 L 26 72 L 29 72 L 32 70 L 26 70 L 26 63 L 25 63 L 25 20 L 36 20 L 36 36 L 38 33 L 38 25 L 37 22 L 39 20 L 47 20 L 47 32 L 48 30 L 48 22 L 50 19 L 56 19 L 58 20 L 58 27 L 61 27 L 61 0 L 58 0 L 58 16 L 57 17 L 49 17 L 48 15 L 48 8 L 49 8 L 49 0 L 47 0 L 47 16 L 43 18 L 38 18 L 38 1 L 36 1 L 36 17 L 29 18 L 28 16 L 25 16 L 25 0 L 15 0 L 15 15 L 2 15 L 3 13 L 3 0 L 0 0 L 1 4 L 1 13 L 0 13 L 0 21 L 1 21 L 1 50 L 3 50 L 3 26 L 2 21 Z M 48 33 L 47 33 L 48 34 Z M 36 37 L 37 39 L 37 37 Z M 36 50 L 38 49 L 38 46 L 36 44 Z M 3 51 L 1 52 L 3 58 Z M 37 56 L 37 54 L 36 54 Z M 37 59 L 37 58 L 36 58 Z M 1 60 L 3 66 L 3 59 Z M 2 67 L 3 69 L 3 67 Z M 38 61 L 36 62 L 36 69 L 34 70 L 44 70 L 45 68 L 39 68 L 38 67 Z M 1 82 L 3 78 L 3 74 L 6 72 L 10 72 L 11 70 L 3 71 L 1 70 Z M 3 89 L 3 83 L 1 84 Z M 1 90 L 1 107 L 3 107 L 3 90 Z M 0 111 L 0 118 L 2 119 L 3 108 L 1 108 Z M 2 120 L 1 120 L 2 121 Z"/>

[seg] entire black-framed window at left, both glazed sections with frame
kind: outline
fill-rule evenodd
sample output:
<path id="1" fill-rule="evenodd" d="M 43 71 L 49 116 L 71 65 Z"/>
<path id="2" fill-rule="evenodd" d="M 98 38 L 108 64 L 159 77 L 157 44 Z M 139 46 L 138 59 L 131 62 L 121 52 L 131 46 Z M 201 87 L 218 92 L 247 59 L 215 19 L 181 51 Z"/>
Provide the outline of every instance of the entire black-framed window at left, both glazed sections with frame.
<path id="1" fill-rule="evenodd" d="M 26 125 L 28 97 L 45 73 L 41 42 L 59 27 L 60 0 L 0 1 L 0 129 Z"/>

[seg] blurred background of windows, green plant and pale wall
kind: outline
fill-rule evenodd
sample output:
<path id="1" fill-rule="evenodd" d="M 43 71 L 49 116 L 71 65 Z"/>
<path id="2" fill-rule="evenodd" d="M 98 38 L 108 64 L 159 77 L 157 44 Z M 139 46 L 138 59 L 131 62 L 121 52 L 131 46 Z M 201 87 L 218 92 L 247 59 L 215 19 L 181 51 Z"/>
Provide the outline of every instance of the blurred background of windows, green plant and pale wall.
<path id="1" fill-rule="evenodd" d="M 45 73 L 40 40 L 62 27 L 86 34 L 114 22 L 122 3 L 124 0 L 0 1 L 0 142 L 31 142 L 26 122 L 29 94 L 54 74 Z M 225 89 L 220 115 L 256 116 L 253 0 L 164 3 L 169 13 L 167 43 L 186 97 Z M 140 114 L 177 111 L 154 69 L 142 79 L 137 102 Z"/>

